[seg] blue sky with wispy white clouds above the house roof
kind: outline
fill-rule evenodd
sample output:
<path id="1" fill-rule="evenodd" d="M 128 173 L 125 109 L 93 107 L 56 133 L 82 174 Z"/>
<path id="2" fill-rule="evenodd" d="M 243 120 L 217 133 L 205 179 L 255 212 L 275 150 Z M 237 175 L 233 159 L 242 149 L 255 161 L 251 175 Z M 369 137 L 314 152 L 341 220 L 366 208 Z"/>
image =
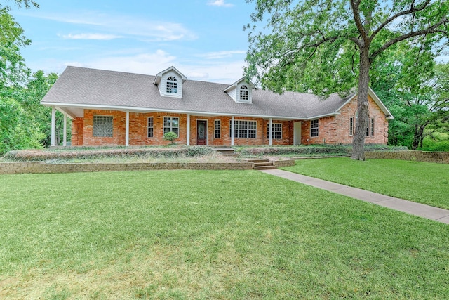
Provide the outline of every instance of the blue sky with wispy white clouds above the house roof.
<path id="1" fill-rule="evenodd" d="M 188 79 L 225 84 L 243 76 L 254 4 L 243 0 L 37 0 L 11 14 L 32 45 L 32 71 L 67 65 L 157 74 L 174 65 Z"/>

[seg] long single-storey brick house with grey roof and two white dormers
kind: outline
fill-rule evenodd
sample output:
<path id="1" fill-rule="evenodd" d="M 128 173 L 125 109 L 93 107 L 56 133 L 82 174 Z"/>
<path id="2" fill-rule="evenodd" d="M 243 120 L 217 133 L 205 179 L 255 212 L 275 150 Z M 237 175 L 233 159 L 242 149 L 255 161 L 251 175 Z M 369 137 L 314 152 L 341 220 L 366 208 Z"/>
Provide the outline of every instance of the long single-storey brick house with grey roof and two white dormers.
<path id="1" fill-rule="evenodd" d="M 368 100 L 366 143 L 386 144 L 394 117 L 371 89 Z M 168 131 L 185 145 L 349 144 L 357 120 L 355 93 L 279 95 L 245 78 L 187 80 L 175 67 L 156 76 L 67 67 L 41 104 L 53 107 L 52 145 L 55 110 L 72 119 L 74 146 L 165 145 Z"/>

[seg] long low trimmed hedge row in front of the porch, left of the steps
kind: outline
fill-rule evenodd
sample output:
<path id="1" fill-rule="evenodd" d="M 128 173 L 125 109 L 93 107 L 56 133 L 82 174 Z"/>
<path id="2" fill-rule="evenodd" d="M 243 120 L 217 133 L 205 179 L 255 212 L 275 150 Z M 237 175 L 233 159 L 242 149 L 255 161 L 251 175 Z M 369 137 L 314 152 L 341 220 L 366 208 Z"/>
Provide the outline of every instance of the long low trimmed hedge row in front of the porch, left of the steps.
<path id="1" fill-rule="evenodd" d="M 15 150 L 4 155 L 5 159 L 29 162 L 48 159 L 95 159 L 105 157 L 196 157 L 210 155 L 214 150 L 205 146 L 182 148 L 114 148 L 92 150 Z"/>

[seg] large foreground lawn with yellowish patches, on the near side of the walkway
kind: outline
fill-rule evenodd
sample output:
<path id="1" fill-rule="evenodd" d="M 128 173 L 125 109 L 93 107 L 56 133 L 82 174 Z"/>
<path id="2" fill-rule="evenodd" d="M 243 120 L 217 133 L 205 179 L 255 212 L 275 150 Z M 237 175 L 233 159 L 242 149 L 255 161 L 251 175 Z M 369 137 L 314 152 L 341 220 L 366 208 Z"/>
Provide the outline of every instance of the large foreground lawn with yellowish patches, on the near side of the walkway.
<path id="1" fill-rule="evenodd" d="M 258 171 L 0 176 L 0 299 L 447 299 L 449 226 Z"/>

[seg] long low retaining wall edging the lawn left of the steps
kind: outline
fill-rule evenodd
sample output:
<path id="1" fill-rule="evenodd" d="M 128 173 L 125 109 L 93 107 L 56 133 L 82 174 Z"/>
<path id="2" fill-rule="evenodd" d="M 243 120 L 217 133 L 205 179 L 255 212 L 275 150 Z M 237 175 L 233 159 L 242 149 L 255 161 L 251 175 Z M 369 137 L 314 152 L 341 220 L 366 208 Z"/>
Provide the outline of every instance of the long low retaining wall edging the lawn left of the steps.
<path id="1" fill-rule="evenodd" d="M 132 162 L 132 163 L 86 163 L 46 164 L 43 162 L 0 163 L 0 174 L 22 173 L 76 173 L 98 171 L 144 171 L 144 170 L 249 170 L 250 162 Z"/>

